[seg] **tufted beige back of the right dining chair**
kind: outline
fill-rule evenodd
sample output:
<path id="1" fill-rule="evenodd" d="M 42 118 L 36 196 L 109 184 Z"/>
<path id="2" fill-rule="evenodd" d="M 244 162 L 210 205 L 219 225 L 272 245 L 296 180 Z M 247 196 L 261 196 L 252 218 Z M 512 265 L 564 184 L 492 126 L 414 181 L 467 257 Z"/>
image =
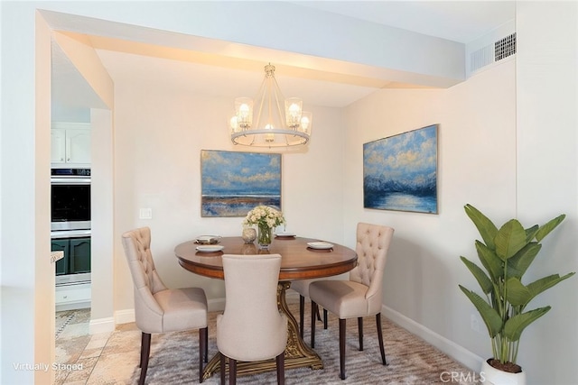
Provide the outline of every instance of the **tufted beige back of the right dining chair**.
<path id="1" fill-rule="evenodd" d="M 383 225 L 359 223 L 357 229 L 358 265 L 350 271 L 350 280 L 368 287 L 366 299 L 370 309 L 382 305 L 382 283 L 387 250 L 394 229 Z M 371 311 L 370 311 L 371 312 Z"/>

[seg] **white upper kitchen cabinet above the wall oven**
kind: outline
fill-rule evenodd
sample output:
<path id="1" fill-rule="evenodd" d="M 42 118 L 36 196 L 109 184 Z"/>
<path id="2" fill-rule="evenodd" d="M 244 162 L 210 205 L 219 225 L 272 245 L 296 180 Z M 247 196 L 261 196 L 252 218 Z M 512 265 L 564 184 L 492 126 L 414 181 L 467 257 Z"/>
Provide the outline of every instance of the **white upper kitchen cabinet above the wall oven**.
<path id="1" fill-rule="evenodd" d="M 90 124 L 53 123 L 51 129 L 53 166 L 90 165 Z"/>

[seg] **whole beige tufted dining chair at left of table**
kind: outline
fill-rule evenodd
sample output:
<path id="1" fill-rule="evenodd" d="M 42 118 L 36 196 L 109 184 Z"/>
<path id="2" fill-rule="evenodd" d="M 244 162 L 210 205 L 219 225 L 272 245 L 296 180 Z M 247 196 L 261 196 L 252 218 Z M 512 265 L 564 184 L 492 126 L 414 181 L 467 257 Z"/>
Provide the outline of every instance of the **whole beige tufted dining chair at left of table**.
<path id="1" fill-rule="evenodd" d="M 126 261 L 135 287 L 135 322 L 141 330 L 141 375 L 144 384 L 151 352 L 151 334 L 199 329 L 199 382 L 207 362 L 209 329 L 207 297 L 200 288 L 167 289 L 154 268 L 151 230 L 142 227 L 122 235 Z"/>

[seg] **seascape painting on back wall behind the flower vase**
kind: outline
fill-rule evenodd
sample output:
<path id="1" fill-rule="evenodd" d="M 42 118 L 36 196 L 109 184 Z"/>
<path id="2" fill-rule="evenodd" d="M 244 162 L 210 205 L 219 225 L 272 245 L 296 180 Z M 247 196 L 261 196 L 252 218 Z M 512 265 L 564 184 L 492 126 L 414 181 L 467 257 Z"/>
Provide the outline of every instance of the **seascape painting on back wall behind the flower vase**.
<path id="1" fill-rule="evenodd" d="M 258 205 L 281 210 L 281 154 L 200 151 L 200 216 L 245 216 Z"/>

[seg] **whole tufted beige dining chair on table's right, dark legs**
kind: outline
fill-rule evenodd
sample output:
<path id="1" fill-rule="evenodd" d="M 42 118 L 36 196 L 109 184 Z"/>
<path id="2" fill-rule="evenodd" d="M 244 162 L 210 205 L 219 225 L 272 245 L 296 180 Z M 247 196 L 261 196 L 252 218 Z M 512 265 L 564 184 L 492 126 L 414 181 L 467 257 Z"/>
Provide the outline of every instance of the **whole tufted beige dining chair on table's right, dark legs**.
<path id="1" fill-rule="evenodd" d="M 340 378 L 345 380 L 345 326 L 349 318 L 358 319 L 359 350 L 363 350 L 363 317 L 376 316 L 381 361 L 387 365 L 381 330 L 382 283 L 387 250 L 394 229 L 383 225 L 359 223 L 356 252 L 358 265 L 349 280 L 317 280 L 309 285 L 312 300 L 311 346 L 315 347 L 314 312 L 318 305 L 340 319 Z"/>

